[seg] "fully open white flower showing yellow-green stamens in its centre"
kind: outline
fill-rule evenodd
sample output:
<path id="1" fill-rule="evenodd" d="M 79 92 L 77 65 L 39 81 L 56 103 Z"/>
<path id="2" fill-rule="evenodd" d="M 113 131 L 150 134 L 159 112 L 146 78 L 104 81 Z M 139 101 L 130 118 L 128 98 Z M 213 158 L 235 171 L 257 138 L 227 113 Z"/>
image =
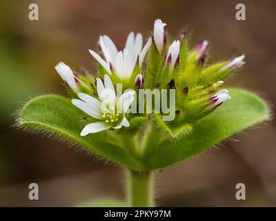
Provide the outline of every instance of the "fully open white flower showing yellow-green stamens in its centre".
<path id="1" fill-rule="evenodd" d="M 81 131 L 81 136 L 89 133 L 98 133 L 108 128 L 121 128 L 130 126 L 125 114 L 134 101 L 135 91 L 130 90 L 121 96 L 117 96 L 112 81 L 108 75 L 104 76 L 104 85 L 101 79 L 97 79 L 97 93 L 99 99 L 85 93 L 78 93 L 81 99 L 72 99 L 72 104 L 86 114 L 99 119 L 86 125 Z"/>

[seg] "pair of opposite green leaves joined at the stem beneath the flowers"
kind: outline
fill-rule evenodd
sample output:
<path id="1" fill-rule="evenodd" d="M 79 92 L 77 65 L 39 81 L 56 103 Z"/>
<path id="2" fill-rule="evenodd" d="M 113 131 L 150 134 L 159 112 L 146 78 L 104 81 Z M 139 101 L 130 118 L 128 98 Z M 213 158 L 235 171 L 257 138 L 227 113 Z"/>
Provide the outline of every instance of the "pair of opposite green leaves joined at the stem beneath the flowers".
<path id="1" fill-rule="evenodd" d="M 87 124 L 81 120 L 85 115 L 70 103 L 70 99 L 59 95 L 32 99 L 23 106 L 18 122 L 27 130 L 46 131 L 61 140 L 81 144 L 85 150 L 130 169 L 159 169 L 193 157 L 231 135 L 269 119 L 268 106 L 257 95 L 236 88 L 230 88 L 229 93 L 232 99 L 194 124 L 193 130 L 183 138 L 172 141 L 158 133 L 156 136 L 152 134 L 149 138 L 151 142 L 145 143 L 148 151 L 144 157 L 133 155 L 132 141 L 116 131 L 81 137 L 80 132 Z M 161 142 L 158 137 L 161 137 Z"/>

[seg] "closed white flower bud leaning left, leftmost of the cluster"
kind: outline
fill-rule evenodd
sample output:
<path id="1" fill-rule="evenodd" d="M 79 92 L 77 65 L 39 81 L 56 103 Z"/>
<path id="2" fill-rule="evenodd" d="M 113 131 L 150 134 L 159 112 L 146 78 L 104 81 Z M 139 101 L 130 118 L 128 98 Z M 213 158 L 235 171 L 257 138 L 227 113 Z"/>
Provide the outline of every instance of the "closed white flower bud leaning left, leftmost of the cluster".
<path id="1" fill-rule="evenodd" d="M 77 84 L 79 83 L 79 79 L 74 75 L 71 68 L 64 64 L 63 62 L 59 62 L 57 66 L 55 66 L 57 73 L 59 73 L 60 77 L 63 81 L 75 92 L 79 91 Z"/>

